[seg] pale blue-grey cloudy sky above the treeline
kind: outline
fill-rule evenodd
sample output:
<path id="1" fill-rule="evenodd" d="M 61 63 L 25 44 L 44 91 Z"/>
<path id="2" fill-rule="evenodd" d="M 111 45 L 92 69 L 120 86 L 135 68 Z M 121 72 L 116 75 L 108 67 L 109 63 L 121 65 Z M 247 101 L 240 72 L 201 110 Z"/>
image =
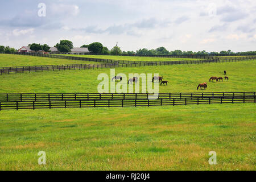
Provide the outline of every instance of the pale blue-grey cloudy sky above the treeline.
<path id="1" fill-rule="evenodd" d="M 14 48 L 68 39 L 75 47 L 118 42 L 123 51 L 256 50 L 255 0 L 9 0 L 0 15 L 0 45 Z"/>

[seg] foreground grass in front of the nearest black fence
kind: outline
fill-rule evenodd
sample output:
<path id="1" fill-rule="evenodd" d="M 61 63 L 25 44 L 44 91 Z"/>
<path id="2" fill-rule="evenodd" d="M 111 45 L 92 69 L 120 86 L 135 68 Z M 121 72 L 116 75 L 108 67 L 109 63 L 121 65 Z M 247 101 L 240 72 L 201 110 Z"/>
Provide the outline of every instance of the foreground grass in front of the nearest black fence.
<path id="1" fill-rule="evenodd" d="M 255 104 L 1 111 L 0 169 L 255 170 L 255 111 Z"/>

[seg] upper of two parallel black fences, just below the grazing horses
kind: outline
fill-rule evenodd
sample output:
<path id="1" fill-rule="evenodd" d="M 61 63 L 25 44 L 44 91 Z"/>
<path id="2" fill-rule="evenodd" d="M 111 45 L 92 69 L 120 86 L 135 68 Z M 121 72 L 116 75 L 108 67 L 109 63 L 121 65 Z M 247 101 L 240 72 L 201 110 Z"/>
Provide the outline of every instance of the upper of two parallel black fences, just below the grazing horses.
<path id="1" fill-rule="evenodd" d="M 193 92 L 193 93 L 5 93 L 0 102 L 11 101 L 64 101 L 64 100 L 148 100 L 172 98 L 255 96 L 255 92 Z"/>

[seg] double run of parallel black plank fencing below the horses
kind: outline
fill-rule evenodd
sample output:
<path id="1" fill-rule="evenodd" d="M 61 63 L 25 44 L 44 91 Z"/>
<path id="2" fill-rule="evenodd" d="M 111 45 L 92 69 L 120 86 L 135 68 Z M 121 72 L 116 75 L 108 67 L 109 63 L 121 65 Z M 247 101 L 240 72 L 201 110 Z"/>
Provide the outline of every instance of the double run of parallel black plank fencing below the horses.
<path id="1" fill-rule="evenodd" d="M 155 99 L 150 99 L 155 98 Z M 97 93 L 38 93 L 1 94 L 0 110 L 52 109 L 69 107 L 125 107 L 164 106 L 189 104 L 255 103 L 255 92 L 213 93 L 149 93 L 97 94 Z"/>

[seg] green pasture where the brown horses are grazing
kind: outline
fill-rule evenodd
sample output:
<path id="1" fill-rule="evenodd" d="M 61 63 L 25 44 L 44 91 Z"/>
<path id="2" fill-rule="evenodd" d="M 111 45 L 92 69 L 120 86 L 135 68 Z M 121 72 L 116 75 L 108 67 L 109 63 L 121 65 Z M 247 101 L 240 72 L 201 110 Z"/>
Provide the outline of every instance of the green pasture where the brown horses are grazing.
<path id="1" fill-rule="evenodd" d="M 169 81 L 168 86 L 159 86 L 159 92 L 251 92 L 256 88 L 255 68 L 255 61 L 243 61 L 115 68 L 115 74 L 125 73 L 128 77 L 129 73 L 159 73 Z M 211 76 L 224 77 L 224 70 L 229 81 L 209 82 Z M 2 75 L 0 93 L 98 93 L 97 86 L 101 81 L 97 77 L 100 73 L 107 73 L 110 77 L 110 69 L 105 68 Z M 196 90 L 197 85 L 205 81 L 208 82 L 207 90 Z"/>

